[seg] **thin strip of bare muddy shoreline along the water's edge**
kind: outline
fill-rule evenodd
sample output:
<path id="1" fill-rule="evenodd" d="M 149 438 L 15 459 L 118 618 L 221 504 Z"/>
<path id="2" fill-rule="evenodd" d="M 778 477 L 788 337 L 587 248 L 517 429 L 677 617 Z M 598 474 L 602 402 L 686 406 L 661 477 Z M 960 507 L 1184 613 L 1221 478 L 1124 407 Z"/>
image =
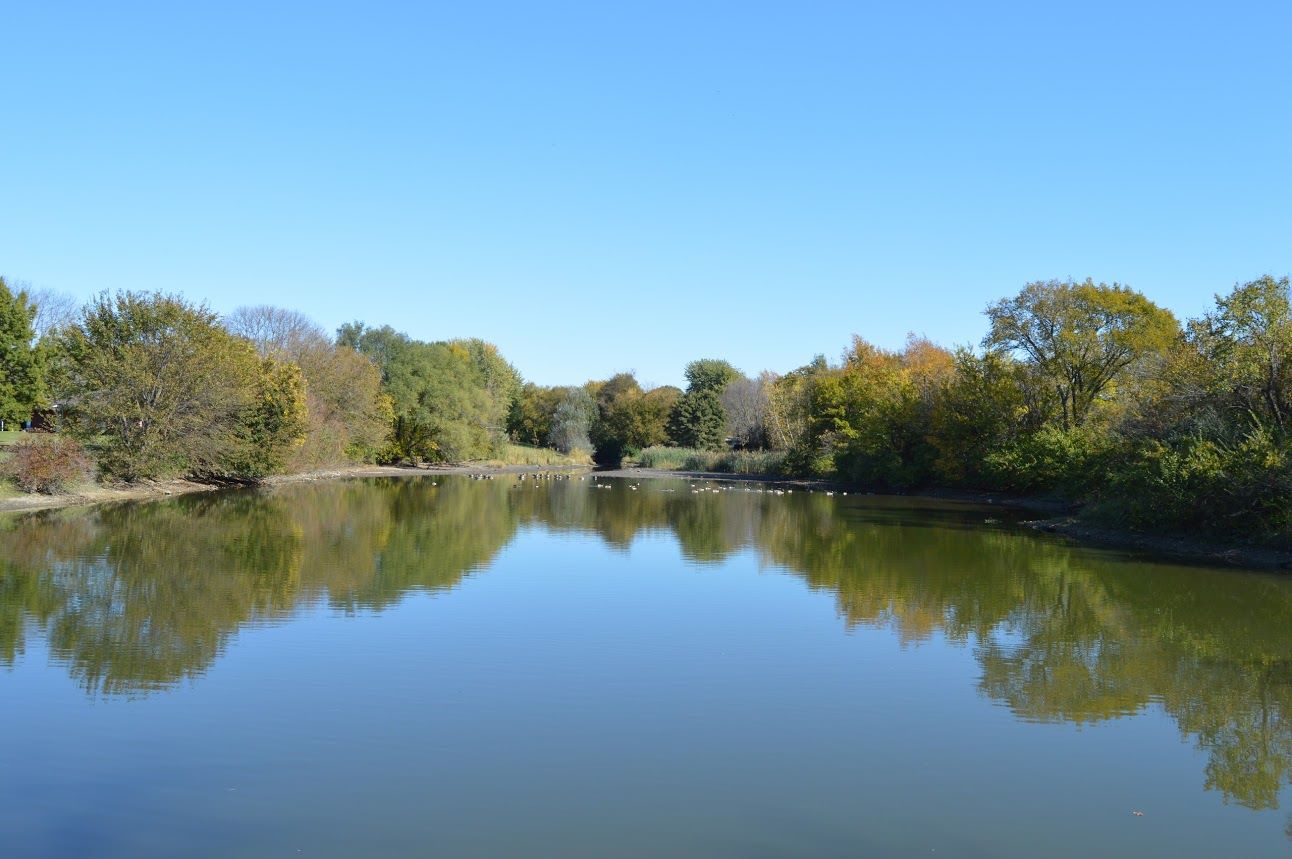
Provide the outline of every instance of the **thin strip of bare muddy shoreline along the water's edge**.
<path id="1" fill-rule="evenodd" d="M 845 490 L 842 484 L 831 481 L 808 478 L 779 478 L 766 474 L 727 474 L 721 471 L 673 471 L 667 469 L 609 468 L 594 469 L 587 465 L 345 465 L 297 474 L 276 474 L 249 484 L 248 488 L 271 488 L 293 483 L 317 481 L 342 481 L 364 477 L 417 478 L 437 474 L 534 474 L 534 473 L 580 473 L 598 477 L 627 479 L 696 479 L 725 481 L 733 483 L 775 483 L 795 488 Z M 21 515 L 41 510 L 62 508 L 94 506 L 99 504 L 119 504 L 127 501 L 158 501 L 178 495 L 198 492 L 217 492 L 236 488 L 242 484 L 204 483 L 199 481 L 173 479 L 121 486 L 93 486 L 59 495 L 18 495 L 0 499 L 0 515 Z M 1021 527 L 1037 533 L 1047 533 L 1080 545 L 1121 549 L 1143 553 L 1156 558 L 1185 563 L 1202 563 L 1245 570 L 1292 571 L 1292 550 L 1267 546 L 1222 543 L 1202 537 L 1180 535 L 1151 535 L 1123 531 L 1090 524 L 1074 515 L 1076 505 L 1053 499 L 1012 496 L 999 492 L 973 492 L 964 490 L 929 490 L 911 493 L 876 493 L 845 490 L 858 496 L 889 496 L 903 499 L 934 499 L 964 504 L 994 505 L 1005 509 L 1036 513 L 1045 518 L 1021 521 Z"/>

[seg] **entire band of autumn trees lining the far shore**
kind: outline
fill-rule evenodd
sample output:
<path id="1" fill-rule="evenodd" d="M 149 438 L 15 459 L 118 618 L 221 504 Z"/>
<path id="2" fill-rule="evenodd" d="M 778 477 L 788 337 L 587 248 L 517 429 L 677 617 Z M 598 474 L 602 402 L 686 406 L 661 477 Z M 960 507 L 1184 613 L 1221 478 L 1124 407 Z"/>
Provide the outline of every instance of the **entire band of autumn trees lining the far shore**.
<path id="1" fill-rule="evenodd" d="M 57 313 L 41 319 L 43 304 Z M 1239 284 L 1185 323 L 1092 280 L 1027 284 L 986 318 L 973 347 L 857 337 L 837 362 L 749 377 L 700 359 L 685 389 L 645 390 L 632 373 L 527 384 L 481 340 L 358 322 L 333 336 L 291 310 L 221 318 L 156 293 L 74 311 L 0 285 L 0 420 L 54 409 L 121 479 L 463 461 L 508 442 L 599 462 L 742 448 L 873 491 L 1050 493 L 1132 527 L 1288 539 L 1287 278 Z"/>

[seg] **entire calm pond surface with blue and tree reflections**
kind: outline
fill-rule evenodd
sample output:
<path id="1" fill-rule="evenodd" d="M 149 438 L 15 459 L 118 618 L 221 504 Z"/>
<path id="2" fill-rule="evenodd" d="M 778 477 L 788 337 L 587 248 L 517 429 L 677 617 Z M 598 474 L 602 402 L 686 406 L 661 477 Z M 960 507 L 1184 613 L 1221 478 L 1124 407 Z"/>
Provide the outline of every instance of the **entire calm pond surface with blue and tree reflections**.
<path id="1" fill-rule="evenodd" d="M 0 521 L 0 855 L 1292 853 L 1292 580 L 606 482 Z"/>

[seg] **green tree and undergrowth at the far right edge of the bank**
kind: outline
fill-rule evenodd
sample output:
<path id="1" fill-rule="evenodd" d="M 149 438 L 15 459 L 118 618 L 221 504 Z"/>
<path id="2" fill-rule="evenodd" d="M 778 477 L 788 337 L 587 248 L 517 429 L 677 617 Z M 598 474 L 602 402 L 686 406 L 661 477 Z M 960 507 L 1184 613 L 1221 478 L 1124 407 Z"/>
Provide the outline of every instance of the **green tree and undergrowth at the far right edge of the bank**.
<path id="1" fill-rule="evenodd" d="M 1119 524 L 1292 540 L 1288 279 L 1216 297 L 1120 428 L 1097 514 Z"/>

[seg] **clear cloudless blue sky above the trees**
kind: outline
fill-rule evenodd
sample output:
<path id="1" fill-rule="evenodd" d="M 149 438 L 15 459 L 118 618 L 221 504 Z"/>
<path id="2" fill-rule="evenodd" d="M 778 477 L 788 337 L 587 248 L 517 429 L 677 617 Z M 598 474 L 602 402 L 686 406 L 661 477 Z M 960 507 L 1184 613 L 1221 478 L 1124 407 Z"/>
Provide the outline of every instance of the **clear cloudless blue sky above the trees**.
<path id="1" fill-rule="evenodd" d="M 0 32 L 0 273 L 484 337 L 543 384 L 972 342 L 1034 279 L 1186 316 L 1292 271 L 1286 1 L 6 3 Z"/>

